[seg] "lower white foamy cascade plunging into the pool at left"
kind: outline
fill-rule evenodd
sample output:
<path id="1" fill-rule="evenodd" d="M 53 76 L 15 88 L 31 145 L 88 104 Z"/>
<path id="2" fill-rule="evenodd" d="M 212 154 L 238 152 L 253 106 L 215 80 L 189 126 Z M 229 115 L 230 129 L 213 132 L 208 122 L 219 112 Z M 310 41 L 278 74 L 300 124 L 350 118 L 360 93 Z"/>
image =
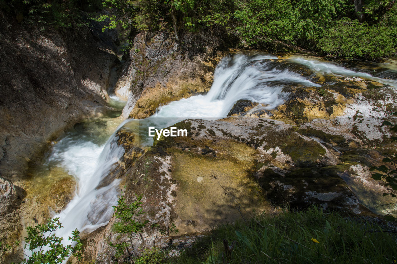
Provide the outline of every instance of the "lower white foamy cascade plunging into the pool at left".
<path id="1" fill-rule="evenodd" d="M 113 214 L 112 205 L 117 201 L 119 179 L 110 180 L 106 186 L 98 186 L 110 177 L 124 149 L 119 147 L 113 134 L 103 146 L 83 139 L 62 139 L 54 147 L 50 162 L 57 162 L 73 175 L 77 182 L 75 196 L 58 215 L 64 226 L 58 235 L 67 238 L 70 230 L 91 232 L 106 224 Z M 64 142 L 66 141 L 66 142 Z M 64 146 L 64 145 L 67 146 Z M 65 233 L 65 234 L 62 234 Z"/>

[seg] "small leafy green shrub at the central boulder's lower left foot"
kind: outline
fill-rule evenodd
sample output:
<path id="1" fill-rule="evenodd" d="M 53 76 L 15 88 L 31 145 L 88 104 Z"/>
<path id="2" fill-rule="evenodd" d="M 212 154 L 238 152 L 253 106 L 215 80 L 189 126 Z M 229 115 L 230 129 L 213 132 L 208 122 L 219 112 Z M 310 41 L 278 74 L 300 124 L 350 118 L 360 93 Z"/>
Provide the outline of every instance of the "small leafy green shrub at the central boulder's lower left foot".
<path id="1" fill-rule="evenodd" d="M 156 239 L 158 236 L 155 236 L 154 233 L 159 232 L 160 235 L 168 235 L 171 233 L 179 233 L 179 230 L 176 228 L 175 224 L 171 224 L 170 227 L 167 229 L 162 228 L 158 223 L 152 223 L 150 226 L 148 226 L 148 220 L 142 220 L 143 215 L 145 215 L 145 212 L 143 212 L 142 208 L 142 196 L 136 196 L 135 201 L 127 205 L 124 196 L 120 196 L 118 199 L 118 205 L 113 206 L 114 207 L 114 215 L 116 216 L 116 219 L 118 221 L 113 225 L 113 231 L 118 234 L 125 234 L 129 238 L 129 243 L 123 241 L 117 244 L 109 243 L 110 246 L 116 248 L 116 258 L 119 258 L 124 255 L 125 250 L 127 250 L 129 257 L 134 257 L 136 261 L 143 261 L 146 258 L 149 258 L 149 256 L 158 256 L 160 254 L 160 251 L 154 247 L 149 248 L 146 246 L 146 240 L 148 237 L 144 237 L 143 232 L 146 229 L 152 234 L 152 243 L 153 246 L 155 244 Z M 133 240 L 138 239 L 141 241 L 144 251 L 143 255 L 139 256 L 137 255 L 137 252 L 135 251 L 133 247 Z M 129 247 L 133 249 L 133 252 L 131 253 L 129 251 Z M 141 263 L 141 262 L 135 262 L 134 263 Z M 156 263 L 156 262 L 142 262 L 142 263 Z"/>

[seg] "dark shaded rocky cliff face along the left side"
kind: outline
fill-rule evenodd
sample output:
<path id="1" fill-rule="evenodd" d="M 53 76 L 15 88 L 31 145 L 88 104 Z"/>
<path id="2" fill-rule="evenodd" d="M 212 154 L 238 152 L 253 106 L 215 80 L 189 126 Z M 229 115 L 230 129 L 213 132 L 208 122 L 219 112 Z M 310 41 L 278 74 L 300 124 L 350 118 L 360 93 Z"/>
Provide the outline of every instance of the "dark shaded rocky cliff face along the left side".
<path id="1" fill-rule="evenodd" d="M 0 175 L 11 179 L 23 176 L 56 133 L 106 109 L 119 60 L 116 38 L 100 36 L 99 25 L 40 31 L 0 16 Z"/>

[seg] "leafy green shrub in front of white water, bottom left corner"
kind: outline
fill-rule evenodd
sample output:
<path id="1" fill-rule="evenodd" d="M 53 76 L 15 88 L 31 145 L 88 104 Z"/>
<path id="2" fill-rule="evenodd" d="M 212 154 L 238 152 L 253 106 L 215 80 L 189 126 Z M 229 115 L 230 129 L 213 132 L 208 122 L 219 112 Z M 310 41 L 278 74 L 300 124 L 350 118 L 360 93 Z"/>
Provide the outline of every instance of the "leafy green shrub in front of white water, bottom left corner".
<path id="1" fill-rule="evenodd" d="M 81 260 L 80 232 L 76 229 L 69 237 L 70 244 L 64 246 L 62 237 L 52 234 L 55 230 L 62 228 L 59 218 L 50 220 L 47 224 L 38 224 L 35 227 L 26 228 L 28 236 L 25 237 L 25 250 L 34 251 L 23 263 L 27 264 L 57 264 L 62 263 L 67 257 L 73 255 Z M 75 246 L 73 246 L 75 243 Z M 46 251 L 43 247 L 49 247 Z"/>

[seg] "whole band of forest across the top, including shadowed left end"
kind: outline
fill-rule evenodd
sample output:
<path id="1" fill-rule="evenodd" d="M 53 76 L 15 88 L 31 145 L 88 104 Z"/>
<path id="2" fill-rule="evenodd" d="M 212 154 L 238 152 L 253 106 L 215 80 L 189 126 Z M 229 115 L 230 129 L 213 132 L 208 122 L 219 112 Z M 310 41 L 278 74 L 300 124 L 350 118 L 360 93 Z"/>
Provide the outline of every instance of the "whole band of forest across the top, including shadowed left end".
<path id="1" fill-rule="evenodd" d="M 312 52 L 333 57 L 395 56 L 395 0 L 0 0 L 19 23 L 129 32 L 210 30 L 254 48 Z M 131 34 L 130 34 L 131 36 Z"/>

